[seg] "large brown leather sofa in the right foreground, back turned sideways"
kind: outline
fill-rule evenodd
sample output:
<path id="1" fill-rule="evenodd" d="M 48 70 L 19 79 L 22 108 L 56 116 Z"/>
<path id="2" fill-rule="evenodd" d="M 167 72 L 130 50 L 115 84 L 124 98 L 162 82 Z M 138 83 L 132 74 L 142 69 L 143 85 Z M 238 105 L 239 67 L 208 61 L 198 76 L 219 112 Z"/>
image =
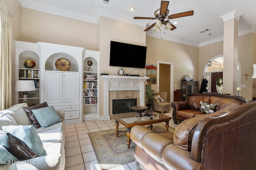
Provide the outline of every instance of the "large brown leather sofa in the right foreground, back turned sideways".
<path id="1" fill-rule="evenodd" d="M 256 102 L 182 121 L 174 132 L 134 126 L 134 157 L 144 170 L 254 170 Z"/>

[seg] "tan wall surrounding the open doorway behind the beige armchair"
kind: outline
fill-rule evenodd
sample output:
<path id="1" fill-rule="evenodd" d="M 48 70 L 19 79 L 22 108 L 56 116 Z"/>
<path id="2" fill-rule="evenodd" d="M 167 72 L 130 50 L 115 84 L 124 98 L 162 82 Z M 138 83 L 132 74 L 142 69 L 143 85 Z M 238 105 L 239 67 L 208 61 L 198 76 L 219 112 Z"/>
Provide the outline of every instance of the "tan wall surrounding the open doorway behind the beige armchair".
<path id="1" fill-rule="evenodd" d="M 174 89 L 175 85 L 176 88 L 180 88 L 180 80 L 184 75 L 198 81 L 198 47 L 150 36 L 146 36 L 146 45 L 147 64 L 157 64 L 157 61 L 174 63 Z M 156 84 L 153 84 L 152 87 L 157 90 Z"/>

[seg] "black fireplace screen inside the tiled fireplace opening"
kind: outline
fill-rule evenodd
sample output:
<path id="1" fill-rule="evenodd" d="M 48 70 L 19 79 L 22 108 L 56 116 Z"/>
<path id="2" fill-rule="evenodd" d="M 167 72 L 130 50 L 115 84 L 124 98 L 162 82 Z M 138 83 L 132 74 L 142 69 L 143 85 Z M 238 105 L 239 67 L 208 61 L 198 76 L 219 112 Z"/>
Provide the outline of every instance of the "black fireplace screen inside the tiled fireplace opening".
<path id="1" fill-rule="evenodd" d="M 137 105 L 137 99 L 115 99 L 112 102 L 113 114 L 133 112 L 132 106 Z"/>

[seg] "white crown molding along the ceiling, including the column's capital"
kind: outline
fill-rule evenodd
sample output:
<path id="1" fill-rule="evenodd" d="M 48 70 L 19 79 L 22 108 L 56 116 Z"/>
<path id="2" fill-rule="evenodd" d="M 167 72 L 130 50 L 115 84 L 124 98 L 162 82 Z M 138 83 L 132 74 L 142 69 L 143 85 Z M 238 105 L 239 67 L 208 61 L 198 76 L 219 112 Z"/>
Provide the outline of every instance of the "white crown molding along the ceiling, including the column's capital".
<path id="1" fill-rule="evenodd" d="M 139 20 L 134 20 L 133 17 L 131 16 L 127 16 L 124 14 L 120 14 L 117 12 L 113 12 L 110 10 L 106 10 L 104 8 L 98 8 L 96 10 L 96 14 L 95 16 L 91 16 L 91 15 L 87 15 L 87 14 L 83 14 L 80 12 L 74 12 L 72 10 L 66 10 L 64 8 L 59 8 L 56 6 L 50 6 L 50 5 L 46 5 L 44 3 L 39 3 L 39 2 L 35 2 L 34 0 L 18 0 L 18 2 L 21 4 L 22 7 L 24 8 L 30 8 L 30 9 L 34 9 L 34 10 L 38 10 L 38 11 L 42 11 L 42 12 L 46 12 L 46 13 L 50 13 L 50 14 L 56 14 L 59 16 L 64 16 L 67 18 L 73 18 L 76 20 L 81 20 L 81 21 L 86 21 L 86 22 L 90 22 L 90 23 L 98 23 L 98 20 L 100 19 L 100 16 L 104 16 L 107 18 L 111 18 L 111 19 L 115 19 L 115 20 L 120 20 L 120 21 L 124 21 L 127 23 L 131 23 L 134 25 L 139 25 L 142 27 L 145 27 L 145 25 L 147 25 L 148 21 L 139 21 Z M 223 20 L 230 20 L 232 18 L 238 18 L 242 15 L 242 12 L 239 12 L 238 10 L 234 10 L 232 12 L 229 12 L 228 14 L 225 14 L 223 16 L 220 16 L 220 18 L 222 18 Z M 224 21 L 225 21 L 224 20 Z M 252 27 L 252 28 L 248 28 L 248 29 L 244 29 L 238 32 L 238 36 L 240 35 L 245 35 L 247 33 L 256 33 L 256 28 Z M 156 38 L 162 38 L 168 41 L 174 41 L 176 43 L 182 43 L 182 44 L 186 44 L 186 45 L 192 45 L 195 47 L 202 47 L 205 45 L 209 45 L 209 41 L 204 41 L 202 43 L 198 43 L 195 41 L 190 41 L 187 39 L 182 39 L 182 38 L 178 38 L 178 37 L 174 37 L 171 35 L 166 35 L 166 34 L 160 34 L 160 33 L 155 33 L 154 31 L 147 31 L 146 35 L 151 36 L 151 37 L 156 37 Z M 220 42 L 223 41 L 223 36 L 222 37 L 218 37 L 215 39 L 211 39 L 211 44 L 212 43 L 216 43 L 216 42 Z"/>

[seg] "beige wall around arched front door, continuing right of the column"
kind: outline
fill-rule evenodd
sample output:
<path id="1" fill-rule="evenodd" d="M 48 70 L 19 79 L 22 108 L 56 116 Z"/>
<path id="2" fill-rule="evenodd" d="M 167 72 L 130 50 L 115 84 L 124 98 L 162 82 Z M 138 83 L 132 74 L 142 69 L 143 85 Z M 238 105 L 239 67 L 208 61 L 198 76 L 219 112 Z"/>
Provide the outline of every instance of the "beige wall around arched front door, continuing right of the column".
<path id="1" fill-rule="evenodd" d="M 245 85 L 245 88 L 241 88 L 241 96 L 247 100 L 252 100 L 252 93 L 256 91 L 256 81 L 251 79 L 252 77 L 252 64 L 256 63 L 256 34 L 249 33 L 238 37 L 238 63 L 241 66 L 241 85 Z M 199 48 L 199 78 L 203 77 L 204 66 L 207 61 L 217 55 L 223 55 L 223 41 L 213 43 L 210 45 L 210 56 L 209 56 L 209 45 Z M 227 63 L 229 64 L 229 63 Z M 225 67 L 225 63 L 224 63 Z M 244 74 L 249 74 L 247 80 L 245 80 Z M 225 77 L 224 86 L 225 86 Z M 199 87 L 201 86 L 199 82 Z M 253 87 L 252 84 L 255 84 Z M 255 88 L 255 89 L 254 89 Z M 236 94 L 233 94 L 236 96 Z M 256 94 L 255 94 L 256 95 Z M 255 96 L 256 97 L 256 96 Z"/>

